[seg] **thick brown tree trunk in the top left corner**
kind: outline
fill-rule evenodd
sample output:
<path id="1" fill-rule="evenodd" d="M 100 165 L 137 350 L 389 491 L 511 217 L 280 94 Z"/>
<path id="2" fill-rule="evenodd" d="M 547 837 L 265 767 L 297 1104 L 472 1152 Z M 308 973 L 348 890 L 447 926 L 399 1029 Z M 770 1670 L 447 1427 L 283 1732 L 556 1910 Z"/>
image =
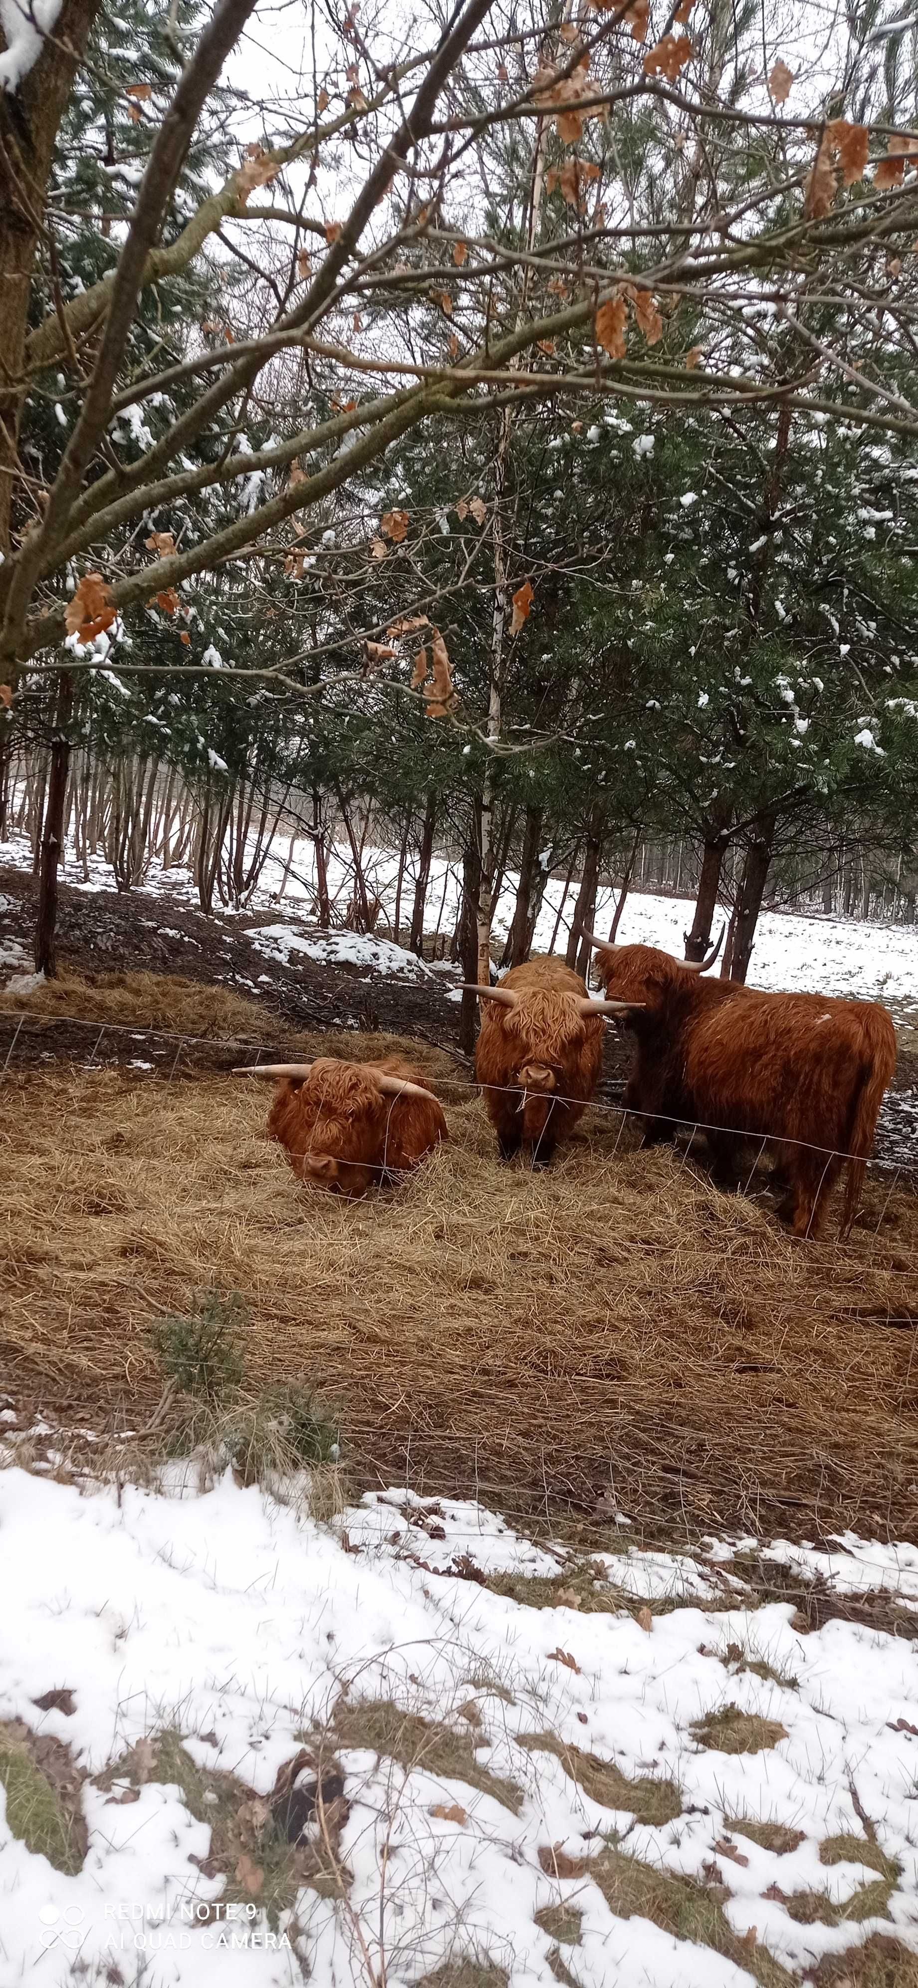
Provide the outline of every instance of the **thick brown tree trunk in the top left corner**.
<path id="1" fill-rule="evenodd" d="M 10 584 L 12 495 L 24 354 L 48 175 L 64 109 L 101 0 L 64 0 L 54 36 L 18 89 L 0 91 L 0 610 Z M 16 8 L 14 8 L 16 18 Z"/>

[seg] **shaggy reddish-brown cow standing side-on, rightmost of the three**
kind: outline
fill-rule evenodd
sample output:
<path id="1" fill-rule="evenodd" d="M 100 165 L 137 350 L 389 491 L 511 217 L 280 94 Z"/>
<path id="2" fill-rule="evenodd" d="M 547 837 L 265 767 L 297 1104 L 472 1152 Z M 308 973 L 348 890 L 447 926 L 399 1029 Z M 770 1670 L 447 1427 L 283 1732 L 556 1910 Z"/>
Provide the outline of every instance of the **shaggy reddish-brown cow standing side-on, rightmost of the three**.
<path id="1" fill-rule="evenodd" d="M 592 942 L 606 996 L 642 1006 L 630 1020 L 638 1058 L 624 1101 L 646 1113 L 646 1143 L 668 1137 L 674 1119 L 695 1123 L 727 1171 L 743 1137 L 769 1141 L 789 1183 L 781 1213 L 799 1237 L 817 1235 L 848 1159 L 844 1235 L 896 1068 L 886 1008 L 827 994 L 761 994 L 735 980 L 701 980 L 697 968 L 656 946 Z"/>

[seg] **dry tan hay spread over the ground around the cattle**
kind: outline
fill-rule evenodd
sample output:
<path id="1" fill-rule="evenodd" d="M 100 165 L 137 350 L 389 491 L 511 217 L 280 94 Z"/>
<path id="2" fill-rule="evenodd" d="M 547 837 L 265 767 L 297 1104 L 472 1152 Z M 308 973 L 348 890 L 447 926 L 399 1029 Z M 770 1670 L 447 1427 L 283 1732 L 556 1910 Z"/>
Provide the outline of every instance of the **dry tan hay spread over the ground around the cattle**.
<path id="1" fill-rule="evenodd" d="M 129 1406 L 137 1427 L 159 1396 L 151 1320 L 217 1284 L 250 1306 L 250 1380 L 316 1382 L 362 1481 L 554 1515 L 610 1495 L 650 1527 L 912 1535 L 918 1376 L 890 1326 L 914 1304 L 914 1197 L 886 1205 L 878 1177 L 850 1242 L 795 1242 L 678 1153 L 630 1151 L 614 1111 L 529 1173 L 497 1163 L 477 1097 L 443 1095 L 451 1143 L 348 1205 L 298 1187 L 254 1083 L 10 1066 L 4 1372 L 46 1411 L 97 1427 Z"/>

